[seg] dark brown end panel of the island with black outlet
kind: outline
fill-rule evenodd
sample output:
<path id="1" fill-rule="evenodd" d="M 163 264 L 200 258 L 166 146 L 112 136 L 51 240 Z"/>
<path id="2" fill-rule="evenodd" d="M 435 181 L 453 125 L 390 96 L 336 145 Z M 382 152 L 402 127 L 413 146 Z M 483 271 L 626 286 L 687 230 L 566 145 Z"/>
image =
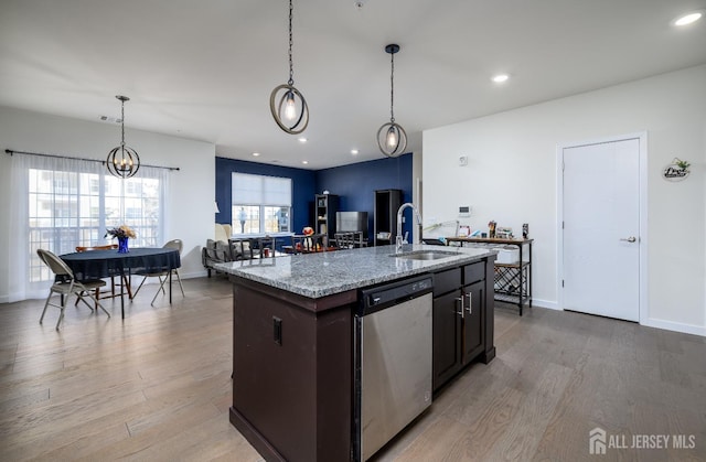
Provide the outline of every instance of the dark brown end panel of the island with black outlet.
<path id="1" fill-rule="evenodd" d="M 252 281 L 233 294 L 232 423 L 267 460 L 350 459 L 351 305 L 317 312 Z"/>

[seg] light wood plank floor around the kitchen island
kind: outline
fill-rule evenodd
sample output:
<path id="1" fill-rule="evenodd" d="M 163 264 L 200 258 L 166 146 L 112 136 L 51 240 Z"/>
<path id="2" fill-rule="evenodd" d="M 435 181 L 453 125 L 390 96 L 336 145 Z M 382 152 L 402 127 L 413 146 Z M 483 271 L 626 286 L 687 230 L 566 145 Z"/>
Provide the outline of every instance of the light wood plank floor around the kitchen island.
<path id="1" fill-rule="evenodd" d="M 231 287 L 143 288 L 120 320 L 42 301 L 0 305 L 0 461 L 259 461 L 228 422 Z M 585 314 L 496 309 L 475 364 L 378 461 L 706 460 L 706 339 Z M 589 454 L 589 431 L 694 436 L 693 449 Z M 616 440 L 618 442 L 622 440 Z M 688 443 L 688 440 L 687 440 Z M 672 441 L 670 441 L 670 447 Z M 335 462 L 335 461 L 332 461 Z"/>

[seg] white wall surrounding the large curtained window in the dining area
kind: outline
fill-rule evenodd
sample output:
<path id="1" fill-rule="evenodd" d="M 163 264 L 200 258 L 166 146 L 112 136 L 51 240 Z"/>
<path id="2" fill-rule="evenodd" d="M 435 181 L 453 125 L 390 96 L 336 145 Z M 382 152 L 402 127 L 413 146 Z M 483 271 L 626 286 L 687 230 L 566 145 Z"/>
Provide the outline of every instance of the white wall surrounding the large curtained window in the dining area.
<path id="1" fill-rule="evenodd" d="M 184 241 L 179 271 L 182 277 L 205 275 L 201 247 L 214 233 L 215 146 L 129 127 L 126 127 L 126 140 L 145 164 L 181 169 L 170 173 L 165 240 L 180 238 Z M 0 107 L 0 301 L 7 301 L 9 293 L 8 248 L 13 235 L 9 221 L 10 155 L 4 150 L 105 160 L 108 151 L 119 143 L 118 125 Z"/>

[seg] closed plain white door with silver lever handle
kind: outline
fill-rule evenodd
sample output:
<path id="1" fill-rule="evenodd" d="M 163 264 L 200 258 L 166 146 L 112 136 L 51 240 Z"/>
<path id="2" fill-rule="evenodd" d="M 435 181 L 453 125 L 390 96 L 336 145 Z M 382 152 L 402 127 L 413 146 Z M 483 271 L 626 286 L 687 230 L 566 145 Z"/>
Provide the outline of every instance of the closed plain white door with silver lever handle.
<path id="1" fill-rule="evenodd" d="M 640 144 L 563 149 L 565 310 L 640 321 Z"/>

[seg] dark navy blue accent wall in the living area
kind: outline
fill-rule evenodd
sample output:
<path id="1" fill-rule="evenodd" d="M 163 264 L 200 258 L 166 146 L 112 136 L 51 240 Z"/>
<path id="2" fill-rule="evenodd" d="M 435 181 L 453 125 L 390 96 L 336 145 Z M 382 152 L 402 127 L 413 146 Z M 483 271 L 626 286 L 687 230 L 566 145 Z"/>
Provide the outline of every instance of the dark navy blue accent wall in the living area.
<path id="1" fill-rule="evenodd" d="M 216 157 L 216 202 L 221 213 L 216 223 L 231 223 L 231 178 L 233 172 L 290 178 L 292 180 L 292 230 L 312 226 L 313 200 L 324 190 L 340 196 L 342 212 L 367 212 L 368 235 L 373 237 L 373 212 L 376 190 L 402 190 L 403 203 L 411 202 L 413 154 L 353 163 L 318 171 L 247 162 Z M 403 232 L 413 235 L 413 219 L 406 212 Z"/>

